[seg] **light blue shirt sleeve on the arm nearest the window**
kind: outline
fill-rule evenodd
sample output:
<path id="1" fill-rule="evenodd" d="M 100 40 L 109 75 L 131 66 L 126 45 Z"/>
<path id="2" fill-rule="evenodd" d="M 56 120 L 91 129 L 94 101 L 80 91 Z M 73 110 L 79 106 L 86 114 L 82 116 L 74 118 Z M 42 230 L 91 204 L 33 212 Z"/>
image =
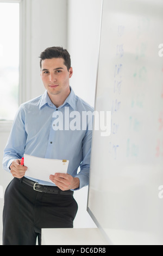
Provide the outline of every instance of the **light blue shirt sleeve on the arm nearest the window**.
<path id="1" fill-rule="evenodd" d="M 24 111 L 20 106 L 16 117 L 13 121 L 10 136 L 7 141 L 7 145 L 4 149 L 3 155 L 3 168 L 10 172 L 10 165 L 13 160 L 21 159 L 24 154 L 24 147 L 26 145 L 27 133 L 24 127 Z"/>

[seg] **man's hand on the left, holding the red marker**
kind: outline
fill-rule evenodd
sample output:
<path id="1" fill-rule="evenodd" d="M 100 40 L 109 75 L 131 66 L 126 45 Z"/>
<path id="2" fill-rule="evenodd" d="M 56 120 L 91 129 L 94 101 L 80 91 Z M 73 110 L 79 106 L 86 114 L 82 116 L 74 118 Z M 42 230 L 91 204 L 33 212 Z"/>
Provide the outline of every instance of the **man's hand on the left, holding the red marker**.
<path id="1" fill-rule="evenodd" d="M 21 159 L 14 160 L 10 165 L 10 172 L 15 178 L 21 179 L 27 170 L 26 166 L 21 166 Z"/>

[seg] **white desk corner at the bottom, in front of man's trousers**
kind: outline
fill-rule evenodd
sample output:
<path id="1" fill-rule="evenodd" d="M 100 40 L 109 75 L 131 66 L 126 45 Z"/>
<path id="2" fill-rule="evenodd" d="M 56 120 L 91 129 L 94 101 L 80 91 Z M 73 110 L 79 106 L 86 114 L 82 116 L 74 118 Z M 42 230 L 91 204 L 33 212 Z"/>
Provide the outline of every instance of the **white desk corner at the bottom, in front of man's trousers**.
<path id="1" fill-rule="evenodd" d="M 98 228 L 45 228 L 42 245 L 108 245 Z"/>

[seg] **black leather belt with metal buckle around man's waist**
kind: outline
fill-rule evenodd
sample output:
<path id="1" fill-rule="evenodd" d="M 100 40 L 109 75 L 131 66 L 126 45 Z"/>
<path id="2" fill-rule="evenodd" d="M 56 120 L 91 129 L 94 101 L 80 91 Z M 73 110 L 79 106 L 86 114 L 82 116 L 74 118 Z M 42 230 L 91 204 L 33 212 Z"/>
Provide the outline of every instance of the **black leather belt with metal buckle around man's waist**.
<path id="1" fill-rule="evenodd" d="M 73 194 L 73 191 L 71 191 L 71 190 L 62 191 L 57 186 L 40 185 L 39 183 L 37 183 L 33 180 L 29 180 L 25 177 L 22 178 L 22 182 L 26 185 L 29 185 L 30 187 L 33 187 L 33 189 L 38 192 L 43 192 L 43 193 L 48 193 L 48 194 L 65 194 L 65 195 Z"/>

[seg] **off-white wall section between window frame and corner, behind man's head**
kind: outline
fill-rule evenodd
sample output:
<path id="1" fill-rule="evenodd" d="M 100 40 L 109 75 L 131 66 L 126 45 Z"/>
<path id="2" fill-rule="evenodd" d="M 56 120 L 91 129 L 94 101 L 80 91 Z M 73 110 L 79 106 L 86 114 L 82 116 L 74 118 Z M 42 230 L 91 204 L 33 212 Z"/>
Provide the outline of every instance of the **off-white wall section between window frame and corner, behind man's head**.
<path id="1" fill-rule="evenodd" d="M 40 53 L 47 47 L 67 46 L 67 0 L 32 0 L 31 96 L 45 91 L 40 78 Z"/>

